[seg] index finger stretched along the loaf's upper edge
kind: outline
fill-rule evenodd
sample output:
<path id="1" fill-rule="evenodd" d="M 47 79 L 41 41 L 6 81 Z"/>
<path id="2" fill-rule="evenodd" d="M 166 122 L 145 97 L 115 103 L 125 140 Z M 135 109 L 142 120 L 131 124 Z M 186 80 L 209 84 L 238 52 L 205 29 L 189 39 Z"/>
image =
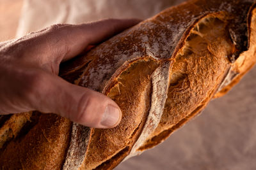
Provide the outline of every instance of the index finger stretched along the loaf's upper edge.
<path id="1" fill-rule="evenodd" d="M 138 19 L 107 19 L 79 25 L 52 25 L 29 34 L 16 43 L 26 41 L 26 49 L 21 49 L 22 54 L 36 56 L 42 64 L 49 60 L 61 62 L 83 52 L 86 46 L 100 43 L 138 22 Z"/>

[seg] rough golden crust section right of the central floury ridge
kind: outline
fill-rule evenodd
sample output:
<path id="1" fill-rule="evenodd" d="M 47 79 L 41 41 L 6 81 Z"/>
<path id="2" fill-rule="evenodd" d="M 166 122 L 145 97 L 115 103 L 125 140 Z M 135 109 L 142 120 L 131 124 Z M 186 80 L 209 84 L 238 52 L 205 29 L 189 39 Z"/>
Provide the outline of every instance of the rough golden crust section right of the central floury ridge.
<path id="1" fill-rule="evenodd" d="M 168 129 L 173 131 L 173 126 L 207 104 L 218 89 L 230 68 L 226 56 L 230 55 L 233 46 L 226 31 L 227 20 L 222 17 L 223 13 L 205 16 L 189 34 L 172 66 L 168 99 L 161 122 L 145 145 L 149 146 L 152 143 L 150 140 L 156 139 L 161 132 Z M 151 146 L 154 146 L 153 143 Z"/>

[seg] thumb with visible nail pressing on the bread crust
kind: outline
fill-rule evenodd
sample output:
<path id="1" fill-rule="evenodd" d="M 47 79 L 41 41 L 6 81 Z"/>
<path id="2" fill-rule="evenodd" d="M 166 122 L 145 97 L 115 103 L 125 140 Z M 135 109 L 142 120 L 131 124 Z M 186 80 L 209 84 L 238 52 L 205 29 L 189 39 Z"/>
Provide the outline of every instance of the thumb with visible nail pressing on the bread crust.
<path id="1" fill-rule="evenodd" d="M 95 128 L 119 124 L 122 113 L 109 97 L 73 85 L 62 78 L 45 73 L 36 76 L 31 95 L 33 108 L 44 113 L 57 113 L 73 122 Z"/>

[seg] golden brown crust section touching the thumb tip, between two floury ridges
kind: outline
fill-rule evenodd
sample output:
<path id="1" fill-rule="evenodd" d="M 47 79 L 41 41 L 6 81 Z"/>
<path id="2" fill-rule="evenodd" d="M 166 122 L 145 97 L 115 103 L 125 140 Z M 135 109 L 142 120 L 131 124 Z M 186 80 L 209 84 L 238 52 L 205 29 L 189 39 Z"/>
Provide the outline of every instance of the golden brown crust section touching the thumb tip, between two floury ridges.
<path id="1" fill-rule="evenodd" d="M 150 75 L 157 66 L 159 64 L 152 59 L 132 62 L 129 68 L 116 78 L 115 85 L 109 88 L 107 96 L 120 106 L 122 120 L 113 129 L 94 130 L 84 162 L 86 169 L 94 169 L 126 147 L 129 148 L 128 151 L 131 150 L 148 115 L 148 96 L 152 93 Z"/>

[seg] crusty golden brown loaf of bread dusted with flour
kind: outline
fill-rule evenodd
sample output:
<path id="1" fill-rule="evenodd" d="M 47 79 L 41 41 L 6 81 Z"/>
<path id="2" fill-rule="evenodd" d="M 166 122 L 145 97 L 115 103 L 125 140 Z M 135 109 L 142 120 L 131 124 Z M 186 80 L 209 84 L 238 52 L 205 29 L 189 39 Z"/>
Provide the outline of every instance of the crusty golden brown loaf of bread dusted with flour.
<path id="1" fill-rule="evenodd" d="M 1 169 L 113 169 L 168 138 L 256 62 L 253 0 L 192 0 L 61 66 L 122 110 L 113 129 L 37 111 L 0 117 Z"/>

